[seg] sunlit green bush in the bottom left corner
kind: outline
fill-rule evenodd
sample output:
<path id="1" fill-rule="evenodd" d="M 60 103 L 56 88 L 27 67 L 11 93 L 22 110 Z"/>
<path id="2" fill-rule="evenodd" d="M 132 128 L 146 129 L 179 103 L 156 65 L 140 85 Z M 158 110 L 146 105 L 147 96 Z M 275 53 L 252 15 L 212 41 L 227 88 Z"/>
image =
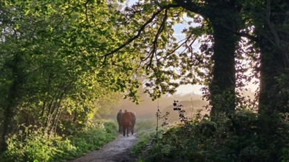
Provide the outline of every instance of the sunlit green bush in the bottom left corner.
<path id="1" fill-rule="evenodd" d="M 76 150 L 70 141 L 46 132 L 43 127 L 30 125 L 8 138 L 8 148 L 2 154 L 2 161 L 55 161 L 64 159 L 68 156 L 67 152 Z"/>

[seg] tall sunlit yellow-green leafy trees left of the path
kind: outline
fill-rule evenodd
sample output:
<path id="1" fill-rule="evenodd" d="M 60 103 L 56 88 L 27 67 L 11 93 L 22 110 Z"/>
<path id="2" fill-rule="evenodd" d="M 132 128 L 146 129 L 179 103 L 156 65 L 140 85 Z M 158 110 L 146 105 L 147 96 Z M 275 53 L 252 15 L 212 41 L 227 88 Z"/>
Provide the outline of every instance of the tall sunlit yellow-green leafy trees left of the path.
<path id="1" fill-rule="evenodd" d="M 98 116 L 100 98 L 137 100 L 135 57 L 105 56 L 127 38 L 114 26 L 119 8 L 116 1 L 1 1 L 0 150 L 10 127 L 73 133 Z"/>

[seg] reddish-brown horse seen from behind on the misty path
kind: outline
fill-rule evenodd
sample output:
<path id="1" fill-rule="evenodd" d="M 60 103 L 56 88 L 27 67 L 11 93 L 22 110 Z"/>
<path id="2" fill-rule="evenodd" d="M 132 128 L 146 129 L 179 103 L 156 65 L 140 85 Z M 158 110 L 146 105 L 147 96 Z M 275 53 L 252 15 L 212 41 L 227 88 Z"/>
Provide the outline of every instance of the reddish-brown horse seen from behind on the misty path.
<path id="1" fill-rule="evenodd" d="M 132 112 L 125 110 L 125 113 L 121 116 L 121 125 L 123 126 L 123 136 L 128 136 L 130 132 L 134 134 L 134 124 L 135 124 L 135 115 Z"/>

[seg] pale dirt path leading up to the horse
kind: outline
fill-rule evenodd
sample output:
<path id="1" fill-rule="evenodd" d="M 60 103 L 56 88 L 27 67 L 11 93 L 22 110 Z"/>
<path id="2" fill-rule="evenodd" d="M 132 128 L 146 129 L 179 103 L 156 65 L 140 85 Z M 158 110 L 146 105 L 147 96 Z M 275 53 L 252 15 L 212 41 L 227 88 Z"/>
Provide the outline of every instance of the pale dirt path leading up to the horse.
<path id="1" fill-rule="evenodd" d="M 133 136 L 119 134 L 114 141 L 107 143 L 100 150 L 69 162 L 134 162 L 137 160 L 132 159 L 129 152 L 136 141 L 135 134 Z"/>

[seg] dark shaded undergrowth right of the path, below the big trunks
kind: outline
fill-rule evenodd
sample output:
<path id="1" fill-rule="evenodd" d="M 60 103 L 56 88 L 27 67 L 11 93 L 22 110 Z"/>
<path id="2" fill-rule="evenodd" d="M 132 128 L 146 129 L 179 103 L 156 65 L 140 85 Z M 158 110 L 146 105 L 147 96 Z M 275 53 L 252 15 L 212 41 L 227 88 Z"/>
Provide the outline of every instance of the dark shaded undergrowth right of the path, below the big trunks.
<path id="1" fill-rule="evenodd" d="M 139 161 L 289 161 L 285 117 L 278 132 L 264 134 L 259 116 L 248 109 L 237 109 L 218 123 L 201 114 L 188 120 L 180 107 L 175 110 L 179 124 L 163 129 L 157 140 L 153 133 L 139 137 L 131 152 Z"/>

